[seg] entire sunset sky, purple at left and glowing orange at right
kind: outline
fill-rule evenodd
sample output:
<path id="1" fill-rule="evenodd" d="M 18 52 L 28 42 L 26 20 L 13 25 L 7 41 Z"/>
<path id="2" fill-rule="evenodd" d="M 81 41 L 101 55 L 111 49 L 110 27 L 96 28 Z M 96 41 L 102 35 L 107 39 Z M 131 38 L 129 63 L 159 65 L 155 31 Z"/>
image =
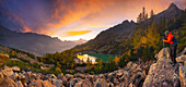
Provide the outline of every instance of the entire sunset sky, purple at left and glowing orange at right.
<path id="1" fill-rule="evenodd" d="M 0 0 L 0 25 L 21 33 L 37 33 L 61 40 L 93 39 L 123 21 L 137 21 L 146 8 L 154 14 L 184 0 Z"/>

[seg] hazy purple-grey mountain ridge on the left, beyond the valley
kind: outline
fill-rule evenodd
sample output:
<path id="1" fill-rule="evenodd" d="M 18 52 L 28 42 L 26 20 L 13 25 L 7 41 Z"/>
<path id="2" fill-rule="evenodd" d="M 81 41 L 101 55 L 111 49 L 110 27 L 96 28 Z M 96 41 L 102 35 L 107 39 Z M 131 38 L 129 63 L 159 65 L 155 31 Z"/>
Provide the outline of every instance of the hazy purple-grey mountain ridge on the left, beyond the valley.
<path id="1" fill-rule="evenodd" d="M 16 33 L 0 26 L 0 45 L 23 50 L 36 55 L 60 52 L 77 45 L 85 42 L 82 39 L 77 41 L 61 41 L 57 37 L 40 35 L 36 33 Z"/>

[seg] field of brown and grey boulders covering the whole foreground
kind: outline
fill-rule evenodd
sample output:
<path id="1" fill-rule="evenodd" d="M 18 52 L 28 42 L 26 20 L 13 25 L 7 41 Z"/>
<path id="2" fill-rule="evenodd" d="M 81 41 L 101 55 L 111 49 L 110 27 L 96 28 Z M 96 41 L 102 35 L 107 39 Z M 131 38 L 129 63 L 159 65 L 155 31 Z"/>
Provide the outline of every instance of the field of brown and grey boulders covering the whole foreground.
<path id="1" fill-rule="evenodd" d="M 0 70 L 0 87 L 186 87 L 185 52 L 176 58 L 179 63 L 174 67 L 170 64 L 168 48 L 162 49 L 155 58 L 156 62 L 129 62 L 125 69 L 98 75 L 55 76 L 5 66 Z M 2 65 L 9 57 L 0 54 L 0 59 Z"/>

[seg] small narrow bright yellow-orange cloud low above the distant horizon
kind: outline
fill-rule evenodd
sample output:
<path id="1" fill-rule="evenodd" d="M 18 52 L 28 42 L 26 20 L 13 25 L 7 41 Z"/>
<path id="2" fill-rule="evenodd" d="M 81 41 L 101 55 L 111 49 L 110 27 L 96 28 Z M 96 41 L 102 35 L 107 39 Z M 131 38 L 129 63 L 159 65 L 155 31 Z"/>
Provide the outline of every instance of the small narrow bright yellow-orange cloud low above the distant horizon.
<path id="1" fill-rule="evenodd" d="M 91 33 L 92 30 L 74 30 L 74 32 L 67 32 L 66 37 L 70 37 L 70 36 L 78 36 L 78 35 L 84 35 L 88 33 Z"/>

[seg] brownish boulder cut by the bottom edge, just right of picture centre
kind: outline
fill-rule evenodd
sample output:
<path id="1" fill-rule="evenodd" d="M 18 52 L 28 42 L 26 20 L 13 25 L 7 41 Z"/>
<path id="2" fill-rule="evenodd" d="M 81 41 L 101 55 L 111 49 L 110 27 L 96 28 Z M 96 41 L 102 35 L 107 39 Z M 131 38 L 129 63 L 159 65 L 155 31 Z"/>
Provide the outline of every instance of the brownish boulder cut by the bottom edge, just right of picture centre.
<path id="1" fill-rule="evenodd" d="M 108 87 L 108 83 L 104 78 L 97 78 L 94 82 L 94 87 Z"/>

